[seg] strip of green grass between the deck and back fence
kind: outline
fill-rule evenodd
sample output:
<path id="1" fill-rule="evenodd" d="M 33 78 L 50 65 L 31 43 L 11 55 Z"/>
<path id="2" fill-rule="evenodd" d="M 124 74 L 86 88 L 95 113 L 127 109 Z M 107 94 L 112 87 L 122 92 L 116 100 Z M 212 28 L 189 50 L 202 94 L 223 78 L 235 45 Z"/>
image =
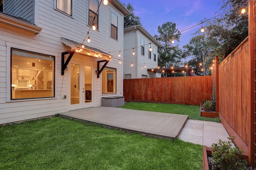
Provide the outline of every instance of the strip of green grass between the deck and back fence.
<path id="1" fill-rule="evenodd" d="M 124 104 L 124 106 L 122 106 L 121 108 L 188 115 L 189 119 L 214 121 L 220 123 L 219 118 L 201 117 L 200 106 L 191 106 L 184 104 L 129 102 Z"/>

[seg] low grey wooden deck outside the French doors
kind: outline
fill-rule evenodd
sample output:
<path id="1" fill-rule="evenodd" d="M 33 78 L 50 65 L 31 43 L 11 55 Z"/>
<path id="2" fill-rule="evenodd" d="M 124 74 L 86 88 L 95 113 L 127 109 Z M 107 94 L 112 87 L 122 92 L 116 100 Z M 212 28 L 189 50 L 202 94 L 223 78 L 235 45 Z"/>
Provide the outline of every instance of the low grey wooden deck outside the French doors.
<path id="1" fill-rule="evenodd" d="M 104 127 L 131 133 L 141 133 L 159 139 L 178 137 L 188 119 L 188 115 L 106 106 L 77 109 L 58 114 L 68 119 L 100 124 Z"/>

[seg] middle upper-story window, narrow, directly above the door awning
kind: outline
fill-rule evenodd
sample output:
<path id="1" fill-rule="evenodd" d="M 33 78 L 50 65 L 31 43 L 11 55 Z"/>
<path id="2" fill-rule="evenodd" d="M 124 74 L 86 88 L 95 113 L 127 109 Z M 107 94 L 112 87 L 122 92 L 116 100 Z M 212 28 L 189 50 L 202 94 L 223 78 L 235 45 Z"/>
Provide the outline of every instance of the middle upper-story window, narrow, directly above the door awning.
<path id="1" fill-rule="evenodd" d="M 89 0 L 89 19 L 88 25 L 95 25 L 96 29 L 98 29 L 98 13 L 96 14 L 99 7 L 98 0 Z M 95 17 L 95 19 L 94 19 Z"/>

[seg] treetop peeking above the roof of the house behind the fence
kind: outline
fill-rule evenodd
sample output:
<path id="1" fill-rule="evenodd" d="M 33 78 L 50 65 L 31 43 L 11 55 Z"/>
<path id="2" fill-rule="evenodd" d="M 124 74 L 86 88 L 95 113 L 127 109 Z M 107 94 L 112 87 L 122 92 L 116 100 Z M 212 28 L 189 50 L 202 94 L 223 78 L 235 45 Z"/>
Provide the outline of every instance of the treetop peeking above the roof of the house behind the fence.
<path id="1" fill-rule="evenodd" d="M 125 4 L 124 4 L 125 6 Z M 127 4 L 126 8 L 131 12 L 124 17 L 124 26 L 127 25 L 142 25 L 140 23 L 140 17 L 134 15 L 134 8 L 130 3 Z"/>

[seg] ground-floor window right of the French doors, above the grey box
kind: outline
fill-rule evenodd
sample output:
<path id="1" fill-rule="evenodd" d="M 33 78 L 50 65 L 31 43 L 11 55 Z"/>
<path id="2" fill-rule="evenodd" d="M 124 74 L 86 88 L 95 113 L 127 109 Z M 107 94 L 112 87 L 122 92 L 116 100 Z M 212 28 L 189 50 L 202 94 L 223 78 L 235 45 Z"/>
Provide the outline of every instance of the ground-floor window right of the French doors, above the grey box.
<path id="1" fill-rule="evenodd" d="M 116 69 L 105 67 L 102 71 L 102 94 L 116 93 Z"/>

